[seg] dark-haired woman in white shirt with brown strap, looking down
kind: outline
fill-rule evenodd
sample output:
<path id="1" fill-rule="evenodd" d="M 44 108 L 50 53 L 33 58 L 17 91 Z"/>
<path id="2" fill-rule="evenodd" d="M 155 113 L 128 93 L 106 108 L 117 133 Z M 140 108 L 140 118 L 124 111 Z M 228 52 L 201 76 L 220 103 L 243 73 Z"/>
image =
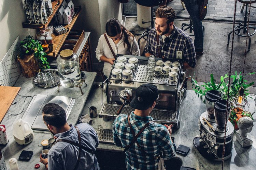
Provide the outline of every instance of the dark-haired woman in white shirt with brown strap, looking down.
<path id="1" fill-rule="evenodd" d="M 140 49 L 136 39 L 117 19 L 112 18 L 107 21 L 106 37 L 115 55 L 140 55 Z M 95 52 L 99 62 L 105 62 L 103 72 L 106 77 L 109 77 L 115 57 L 108 46 L 104 34 L 100 36 Z"/>

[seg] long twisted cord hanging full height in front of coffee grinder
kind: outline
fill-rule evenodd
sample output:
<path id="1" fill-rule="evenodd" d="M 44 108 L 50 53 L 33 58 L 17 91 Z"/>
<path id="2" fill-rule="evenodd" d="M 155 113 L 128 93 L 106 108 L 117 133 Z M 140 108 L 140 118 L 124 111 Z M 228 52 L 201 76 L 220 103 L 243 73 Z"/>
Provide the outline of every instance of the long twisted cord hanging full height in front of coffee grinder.
<path id="1" fill-rule="evenodd" d="M 231 45 L 231 56 L 230 56 L 230 64 L 229 64 L 229 77 L 228 77 L 228 98 L 227 98 L 227 105 L 226 105 L 226 116 L 225 116 L 225 129 L 224 129 L 224 143 L 223 143 L 223 150 L 222 150 L 222 170 L 224 165 L 224 155 L 225 155 L 225 144 L 226 144 L 226 128 L 227 128 L 227 117 L 228 117 L 228 101 L 229 101 L 229 90 L 230 90 L 230 77 L 231 77 L 231 66 L 232 66 L 232 56 L 233 56 L 233 47 L 234 47 L 234 28 L 236 23 L 236 12 L 237 12 L 237 0 L 235 1 L 234 5 L 234 19 L 233 19 L 233 30 L 232 30 L 232 45 Z"/>

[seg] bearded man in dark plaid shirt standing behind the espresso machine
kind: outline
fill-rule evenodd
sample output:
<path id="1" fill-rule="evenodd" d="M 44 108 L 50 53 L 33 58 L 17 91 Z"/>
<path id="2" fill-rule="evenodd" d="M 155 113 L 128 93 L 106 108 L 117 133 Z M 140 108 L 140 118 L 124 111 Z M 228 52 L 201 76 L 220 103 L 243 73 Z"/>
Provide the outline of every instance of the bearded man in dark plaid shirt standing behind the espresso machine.
<path id="1" fill-rule="evenodd" d="M 169 6 L 157 8 L 155 28 L 148 34 L 145 56 L 154 55 L 158 58 L 170 59 L 182 58 L 184 69 L 195 67 L 196 51 L 193 40 L 185 31 L 173 24 L 175 17 L 173 8 Z M 157 47 L 157 37 L 159 47 Z"/>

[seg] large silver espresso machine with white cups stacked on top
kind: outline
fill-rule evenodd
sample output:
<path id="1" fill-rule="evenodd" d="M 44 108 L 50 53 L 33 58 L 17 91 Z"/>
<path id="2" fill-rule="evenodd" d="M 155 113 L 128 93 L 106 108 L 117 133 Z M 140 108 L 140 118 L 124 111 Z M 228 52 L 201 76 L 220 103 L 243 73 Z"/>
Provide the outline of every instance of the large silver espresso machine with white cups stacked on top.
<path id="1" fill-rule="evenodd" d="M 181 64 L 177 81 L 170 83 L 169 76 L 167 75 L 147 78 L 146 65 L 148 64 L 148 57 L 119 54 L 117 57 L 118 56 L 125 56 L 127 61 L 131 57 L 138 58 L 138 67 L 136 72 L 133 74 L 132 80 L 116 80 L 113 79 L 112 74 L 110 74 L 109 78 L 102 83 L 102 97 L 105 93 L 107 103 L 102 104 L 99 117 L 109 120 L 115 119 L 118 114 L 129 115 L 134 111 L 134 108 L 130 107 L 129 102 L 136 96 L 136 88 L 142 84 L 151 83 L 156 85 L 158 88 L 159 103 L 156 104 L 150 116 L 152 116 L 158 123 L 168 125 L 174 124 L 176 128 L 179 128 L 180 106 L 184 95 L 183 82 L 187 80 L 187 78 L 185 78 L 185 72 L 182 69 L 183 61 L 180 59 L 170 60 L 155 58 L 155 61 L 162 60 L 165 62 L 169 60 L 172 63 L 178 61 Z M 115 60 L 113 66 L 116 61 L 117 60 Z M 114 67 L 112 70 L 113 69 Z"/>

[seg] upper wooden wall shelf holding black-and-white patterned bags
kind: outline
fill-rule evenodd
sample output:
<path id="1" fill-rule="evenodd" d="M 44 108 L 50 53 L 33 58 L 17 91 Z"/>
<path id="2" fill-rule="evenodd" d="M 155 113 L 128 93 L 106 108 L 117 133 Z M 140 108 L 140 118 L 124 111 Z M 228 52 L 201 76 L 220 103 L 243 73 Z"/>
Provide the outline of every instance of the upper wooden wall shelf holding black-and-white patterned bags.
<path id="1" fill-rule="evenodd" d="M 53 12 L 52 14 L 48 17 L 48 20 L 46 22 L 46 24 L 35 24 L 35 23 L 26 23 L 23 22 L 22 23 L 22 27 L 23 28 L 32 28 L 32 29 L 46 29 L 49 25 L 49 23 L 51 22 L 51 20 L 53 19 L 55 13 L 58 11 L 60 5 L 62 4 L 64 0 L 54 0 L 52 1 L 52 6 L 53 6 Z"/>

